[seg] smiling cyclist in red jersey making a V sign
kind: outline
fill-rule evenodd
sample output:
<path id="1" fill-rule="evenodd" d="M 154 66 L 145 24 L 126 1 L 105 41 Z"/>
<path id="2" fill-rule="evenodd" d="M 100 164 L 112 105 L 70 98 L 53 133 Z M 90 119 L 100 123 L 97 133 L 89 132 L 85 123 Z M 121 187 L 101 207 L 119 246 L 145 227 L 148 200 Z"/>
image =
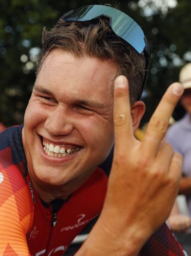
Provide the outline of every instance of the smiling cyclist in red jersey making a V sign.
<path id="1" fill-rule="evenodd" d="M 99 214 L 76 256 L 186 255 L 163 224 L 181 177 L 181 155 L 162 142 L 181 84 L 134 137 L 149 58 L 142 29 L 112 7 L 44 29 L 24 125 L 0 135 L 0 256 L 61 256 Z"/>

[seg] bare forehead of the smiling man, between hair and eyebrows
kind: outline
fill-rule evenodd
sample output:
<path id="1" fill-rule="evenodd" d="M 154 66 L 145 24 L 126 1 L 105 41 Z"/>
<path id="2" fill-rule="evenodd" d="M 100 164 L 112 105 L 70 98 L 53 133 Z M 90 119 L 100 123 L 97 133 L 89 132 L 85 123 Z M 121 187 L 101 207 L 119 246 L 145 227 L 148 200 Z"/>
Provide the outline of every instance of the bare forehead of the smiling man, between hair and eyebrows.
<path id="1" fill-rule="evenodd" d="M 100 60 L 94 57 L 75 57 L 71 53 L 60 49 L 53 50 L 46 57 L 40 72 L 37 74 L 36 84 L 46 86 L 54 91 L 63 87 L 73 90 L 73 94 L 92 93 L 113 96 L 114 80 L 118 75 L 118 67 L 111 60 Z M 62 87 L 58 85 L 62 84 Z M 53 87 L 51 89 L 53 91 Z"/>

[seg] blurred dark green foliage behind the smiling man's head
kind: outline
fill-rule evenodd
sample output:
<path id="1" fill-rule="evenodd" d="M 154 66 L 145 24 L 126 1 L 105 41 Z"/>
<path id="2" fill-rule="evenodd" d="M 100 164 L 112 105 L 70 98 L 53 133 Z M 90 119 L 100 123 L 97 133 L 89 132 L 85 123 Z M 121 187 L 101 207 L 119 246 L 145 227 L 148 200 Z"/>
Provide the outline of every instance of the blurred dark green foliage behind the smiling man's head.
<path id="1" fill-rule="evenodd" d="M 108 0 L 134 18 L 152 47 L 152 61 L 143 98 L 147 122 L 170 83 L 178 80 L 180 68 L 191 61 L 190 7 L 187 0 Z M 35 80 L 36 59 L 44 26 L 53 27 L 70 9 L 103 1 L 1 0 L 0 2 L 0 121 L 20 124 Z M 175 118 L 182 109 L 177 106 Z"/>

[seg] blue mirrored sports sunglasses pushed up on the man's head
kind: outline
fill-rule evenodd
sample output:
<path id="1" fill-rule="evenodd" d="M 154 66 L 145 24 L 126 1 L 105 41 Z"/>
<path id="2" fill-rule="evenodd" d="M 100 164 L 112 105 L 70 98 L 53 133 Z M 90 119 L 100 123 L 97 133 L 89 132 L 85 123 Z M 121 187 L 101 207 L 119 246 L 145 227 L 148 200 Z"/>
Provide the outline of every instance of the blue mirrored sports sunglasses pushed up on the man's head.
<path id="1" fill-rule="evenodd" d="M 150 62 L 150 45 L 142 28 L 131 17 L 110 6 L 86 5 L 63 14 L 61 18 L 65 21 L 86 22 L 99 17 L 109 18 L 113 32 L 131 45 L 139 54 L 143 52 L 146 60 L 144 88 Z"/>

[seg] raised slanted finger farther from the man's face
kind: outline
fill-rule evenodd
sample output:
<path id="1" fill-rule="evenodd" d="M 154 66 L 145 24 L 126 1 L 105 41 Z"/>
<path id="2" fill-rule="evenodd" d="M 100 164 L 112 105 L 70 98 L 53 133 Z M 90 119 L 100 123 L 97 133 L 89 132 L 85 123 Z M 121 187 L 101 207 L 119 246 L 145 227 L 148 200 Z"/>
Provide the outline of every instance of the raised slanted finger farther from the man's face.
<path id="1" fill-rule="evenodd" d="M 181 83 L 171 84 L 152 115 L 142 143 L 145 150 L 149 148 L 150 153 L 157 153 L 159 144 L 168 129 L 170 117 L 183 91 L 184 87 Z"/>

